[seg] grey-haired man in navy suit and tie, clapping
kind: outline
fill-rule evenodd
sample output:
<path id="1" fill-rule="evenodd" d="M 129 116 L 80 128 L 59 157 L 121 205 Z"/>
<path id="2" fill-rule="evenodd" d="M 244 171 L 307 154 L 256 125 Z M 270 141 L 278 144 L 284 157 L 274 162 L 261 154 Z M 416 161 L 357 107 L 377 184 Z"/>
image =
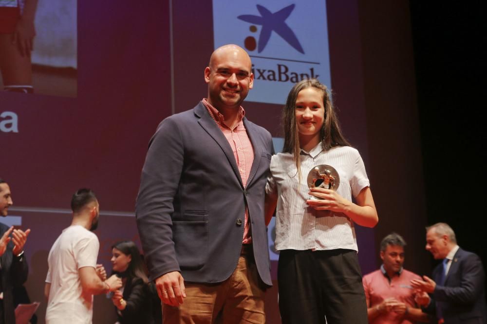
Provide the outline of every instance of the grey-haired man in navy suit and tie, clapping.
<path id="1" fill-rule="evenodd" d="M 434 269 L 433 279 L 411 281 L 423 293 L 417 302 L 434 313 L 438 323 L 487 323 L 485 271 L 479 256 L 462 250 L 446 223 L 426 228 L 426 250 L 443 262 Z"/>

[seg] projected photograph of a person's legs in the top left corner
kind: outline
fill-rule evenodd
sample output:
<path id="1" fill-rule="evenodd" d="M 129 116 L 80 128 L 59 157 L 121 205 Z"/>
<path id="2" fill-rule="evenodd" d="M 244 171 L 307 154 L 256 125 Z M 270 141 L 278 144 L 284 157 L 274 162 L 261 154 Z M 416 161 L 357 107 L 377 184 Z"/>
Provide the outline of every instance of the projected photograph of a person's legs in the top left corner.
<path id="1" fill-rule="evenodd" d="M 77 95 L 76 0 L 0 0 L 0 91 Z"/>

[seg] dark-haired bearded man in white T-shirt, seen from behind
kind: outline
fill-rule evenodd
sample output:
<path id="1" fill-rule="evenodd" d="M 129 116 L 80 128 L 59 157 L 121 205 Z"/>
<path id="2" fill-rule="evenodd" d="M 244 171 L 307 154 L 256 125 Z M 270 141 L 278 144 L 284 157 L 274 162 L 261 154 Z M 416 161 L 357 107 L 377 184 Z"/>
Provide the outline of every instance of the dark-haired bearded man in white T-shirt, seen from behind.
<path id="1" fill-rule="evenodd" d="M 49 252 L 49 271 L 44 293 L 48 298 L 46 324 L 92 323 L 93 295 L 122 286 L 120 278 L 106 278 L 97 268 L 100 243 L 93 230 L 98 225 L 99 205 L 94 192 L 79 189 L 71 200 L 73 222 L 64 229 Z"/>

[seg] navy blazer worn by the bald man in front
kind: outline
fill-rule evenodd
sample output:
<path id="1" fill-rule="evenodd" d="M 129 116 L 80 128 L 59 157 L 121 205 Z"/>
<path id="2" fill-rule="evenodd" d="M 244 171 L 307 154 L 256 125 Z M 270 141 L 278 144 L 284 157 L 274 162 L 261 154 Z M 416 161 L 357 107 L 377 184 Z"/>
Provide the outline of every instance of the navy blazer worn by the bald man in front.
<path id="1" fill-rule="evenodd" d="M 246 185 L 225 135 L 202 102 L 159 124 L 135 208 L 150 280 L 171 271 L 181 271 L 190 282 L 227 279 L 238 263 L 248 206 L 257 269 L 272 285 L 263 216 L 272 137 L 243 121 L 254 149 Z"/>

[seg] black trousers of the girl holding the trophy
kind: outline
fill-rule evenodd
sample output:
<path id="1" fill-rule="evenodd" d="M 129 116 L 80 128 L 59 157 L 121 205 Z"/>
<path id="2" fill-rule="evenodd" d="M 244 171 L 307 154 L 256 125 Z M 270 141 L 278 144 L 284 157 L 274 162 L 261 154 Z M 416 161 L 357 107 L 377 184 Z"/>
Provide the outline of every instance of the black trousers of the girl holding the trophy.
<path id="1" fill-rule="evenodd" d="M 280 252 L 282 324 L 367 324 L 367 304 L 353 250 Z"/>

